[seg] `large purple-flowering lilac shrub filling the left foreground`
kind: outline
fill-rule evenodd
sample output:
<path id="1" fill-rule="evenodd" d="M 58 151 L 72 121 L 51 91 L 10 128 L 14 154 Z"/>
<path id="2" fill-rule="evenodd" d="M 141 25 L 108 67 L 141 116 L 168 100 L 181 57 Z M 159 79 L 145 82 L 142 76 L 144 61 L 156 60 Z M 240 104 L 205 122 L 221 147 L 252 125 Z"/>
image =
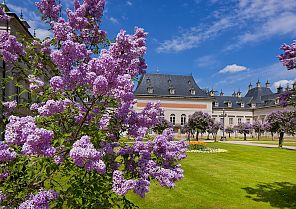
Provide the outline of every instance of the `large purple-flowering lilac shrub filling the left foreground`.
<path id="1" fill-rule="evenodd" d="M 133 80 L 146 69 L 147 33 L 121 30 L 108 41 L 100 30 L 104 0 L 74 0 L 65 17 L 55 0 L 36 5 L 53 39 L 0 34 L 0 56 L 18 76 L 12 79 L 20 95 L 32 95 L 2 104 L 0 206 L 131 208 L 125 194 L 144 197 L 152 179 L 174 187 L 183 178 L 179 161 L 187 144 L 174 142 L 170 128 L 142 142 L 162 110 L 158 103 L 133 109 Z M 8 20 L 2 10 L 1 20 Z M 122 142 L 123 134 L 135 143 Z"/>

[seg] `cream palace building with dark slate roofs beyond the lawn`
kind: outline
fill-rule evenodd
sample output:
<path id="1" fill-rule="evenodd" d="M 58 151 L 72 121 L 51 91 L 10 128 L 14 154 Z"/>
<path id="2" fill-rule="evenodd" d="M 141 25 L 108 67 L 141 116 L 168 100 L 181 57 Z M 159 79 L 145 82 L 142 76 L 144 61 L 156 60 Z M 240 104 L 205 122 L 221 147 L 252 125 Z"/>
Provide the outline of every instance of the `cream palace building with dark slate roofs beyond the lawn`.
<path id="1" fill-rule="evenodd" d="M 279 105 L 282 92 L 281 86 L 274 93 L 268 81 L 264 86 L 258 81 L 255 87 L 249 85 L 244 96 L 240 91 L 225 96 L 222 91 L 217 94 L 213 89 L 202 90 L 192 76 L 145 74 L 135 90 L 135 109 L 143 109 L 150 101 L 160 101 L 165 119 L 174 125 L 176 132 L 180 132 L 188 117 L 196 111 L 206 112 L 228 127 L 253 120 L 264 121 L 270 112 L 283 109 Z"/>

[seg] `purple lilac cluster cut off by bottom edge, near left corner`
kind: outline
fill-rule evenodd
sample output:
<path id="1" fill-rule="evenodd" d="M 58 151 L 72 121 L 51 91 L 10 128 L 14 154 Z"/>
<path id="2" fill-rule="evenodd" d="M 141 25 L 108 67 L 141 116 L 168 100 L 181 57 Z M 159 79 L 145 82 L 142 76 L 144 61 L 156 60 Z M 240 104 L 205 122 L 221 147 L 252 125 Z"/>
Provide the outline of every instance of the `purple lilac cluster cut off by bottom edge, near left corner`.
<path id="1" fill-rule="evenodd" d="M 31 195 L 28 200 L 23 202 L 18 209 L 49 209 L 49 203 L 58 199 L 59 194 L 53 190 L 40 189 L 36 195 Z"/>

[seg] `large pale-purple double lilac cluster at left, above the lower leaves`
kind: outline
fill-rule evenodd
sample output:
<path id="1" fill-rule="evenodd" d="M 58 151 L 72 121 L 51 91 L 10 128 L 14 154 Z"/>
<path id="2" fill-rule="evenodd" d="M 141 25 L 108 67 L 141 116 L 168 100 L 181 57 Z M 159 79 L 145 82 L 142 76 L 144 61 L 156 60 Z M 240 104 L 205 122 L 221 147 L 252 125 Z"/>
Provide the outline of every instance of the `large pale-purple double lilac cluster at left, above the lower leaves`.
<path id="1" fill-rule="evenodd" d="M 31 116 L 10 116 L 9 123 L 6 125 L 6 143 L 23 145 L 24 155 L 53 156 L 55 148 L 50 145 L 53 137 L 52 131 L 38 128 Z"/>

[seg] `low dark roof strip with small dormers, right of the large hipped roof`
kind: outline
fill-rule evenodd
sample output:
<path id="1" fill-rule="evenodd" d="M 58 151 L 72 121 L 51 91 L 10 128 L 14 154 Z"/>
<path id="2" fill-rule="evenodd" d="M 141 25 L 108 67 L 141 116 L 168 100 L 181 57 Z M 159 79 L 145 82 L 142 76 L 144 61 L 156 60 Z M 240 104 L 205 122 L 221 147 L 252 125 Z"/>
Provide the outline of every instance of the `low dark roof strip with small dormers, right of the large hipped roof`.
<path id="1" fill-rule="evenodd" d="M 234 97 L 234 96 L 215 96 L 213 108 L 229 108 L 228 103 L 231 102 L 231 108 L 248 109 L 251 106 L 252 97 Z M 218 102 L 218 107 L 215 107 L 215 102 Z M 244 103 L 244 107 L 241 104 Z"/>

